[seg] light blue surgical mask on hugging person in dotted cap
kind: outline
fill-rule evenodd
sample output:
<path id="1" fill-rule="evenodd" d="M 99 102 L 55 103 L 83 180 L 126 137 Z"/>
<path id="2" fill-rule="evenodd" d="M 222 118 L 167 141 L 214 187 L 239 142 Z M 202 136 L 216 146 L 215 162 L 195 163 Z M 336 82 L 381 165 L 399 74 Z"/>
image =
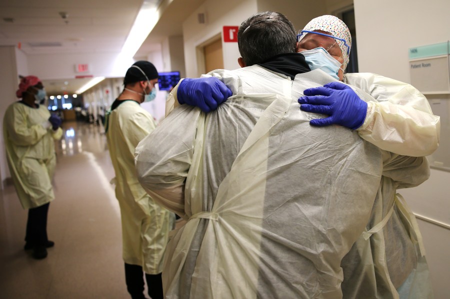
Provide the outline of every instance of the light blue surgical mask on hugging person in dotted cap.
<path id="1" fill-rule="evenodd" d="M 321 69 L 331 77 L 339 80 L 337 72 L 340 69 L 340 62 L 322 47 L 300 52 L 311 70 Z"/>

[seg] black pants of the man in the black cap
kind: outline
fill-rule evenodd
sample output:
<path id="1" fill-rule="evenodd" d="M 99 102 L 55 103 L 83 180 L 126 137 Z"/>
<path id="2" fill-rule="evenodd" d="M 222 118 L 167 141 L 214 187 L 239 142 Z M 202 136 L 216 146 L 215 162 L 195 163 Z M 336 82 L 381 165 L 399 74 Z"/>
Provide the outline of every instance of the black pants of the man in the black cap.
<path id="1" fill-rule="evenodd" d="M 145 298 L 142 294 L 144 290 L 142 267 L 125 263 L 125 281 L 126 289 L 132 299 Z M 147 282 L 148 296 L 151 299 L 162 299 L 161 274 L 150 275 L 145 273 L 145 281 Z"/>

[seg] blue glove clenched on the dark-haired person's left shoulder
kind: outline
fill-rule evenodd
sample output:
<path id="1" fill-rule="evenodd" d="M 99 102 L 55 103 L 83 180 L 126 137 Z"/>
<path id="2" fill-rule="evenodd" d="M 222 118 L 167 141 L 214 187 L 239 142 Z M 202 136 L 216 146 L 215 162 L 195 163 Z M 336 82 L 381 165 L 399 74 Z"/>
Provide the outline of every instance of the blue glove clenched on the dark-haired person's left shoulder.
<path id="1" fill-rule="evenodd" d="M 231 90 L 216 77 L 186 78 L 176 91 L 178 103 L 199 107 L 203 112 L 217 109 L 231 95 Z"/>

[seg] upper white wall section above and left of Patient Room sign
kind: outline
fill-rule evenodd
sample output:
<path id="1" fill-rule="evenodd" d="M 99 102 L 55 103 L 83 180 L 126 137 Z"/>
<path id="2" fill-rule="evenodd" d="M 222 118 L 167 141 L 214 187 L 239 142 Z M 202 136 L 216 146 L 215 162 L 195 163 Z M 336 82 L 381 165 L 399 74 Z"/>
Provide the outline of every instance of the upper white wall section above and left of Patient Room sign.
<path id="1" fill-rule="evenodd" d="M 354 9 L 360 72 L 409 82 L 408 48 L 450 38 L 448 0 L 355 0 Z"/>

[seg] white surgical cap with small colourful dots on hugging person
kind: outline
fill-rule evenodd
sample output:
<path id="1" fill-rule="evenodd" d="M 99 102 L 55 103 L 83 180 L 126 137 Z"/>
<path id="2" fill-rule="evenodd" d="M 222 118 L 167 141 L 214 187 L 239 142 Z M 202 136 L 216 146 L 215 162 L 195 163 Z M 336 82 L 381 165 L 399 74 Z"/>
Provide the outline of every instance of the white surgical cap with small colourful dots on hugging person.
<path id="1" fill-rule="evenodd" d="M 339 37 L 345 40 L 347 45 L 351 47 L 351 35 L 350 30 L 348 30 L 347 25 L 334 15 L 322 15 L 313 18 L 306 24 L 303 30 L 314 31 L 314 30 L 322 30 L 328 32 L 330 35 L 334 37 Z M 299 41 L 306 35 L 304 32 Z M 347 67 L 348 64 L 348 54 L 347 54 L 347 46 L 344 45 L 344 42 L 336 39 L 337 44 L 339 45 L 340 51 L 342 52 L 342 57 L 344 59 L 343 68 Z"/>

